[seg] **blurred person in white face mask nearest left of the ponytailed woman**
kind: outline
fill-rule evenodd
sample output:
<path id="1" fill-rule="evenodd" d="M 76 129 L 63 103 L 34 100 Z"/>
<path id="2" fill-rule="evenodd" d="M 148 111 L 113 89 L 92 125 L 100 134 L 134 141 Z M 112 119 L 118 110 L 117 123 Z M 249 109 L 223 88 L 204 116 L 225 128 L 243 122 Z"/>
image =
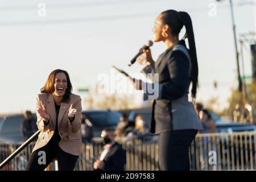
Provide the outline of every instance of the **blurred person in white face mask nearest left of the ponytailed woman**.
<path id="1" fill-rule="evenodd" d="M 123 140 L 129 142 L 133 139 L 144 139 L 146 136 L 150 135 L 148 127 L 146 126 L 146 121 L 142 115 L 138 115 L 135 118 L 135 128 L 127 134 Z"/>

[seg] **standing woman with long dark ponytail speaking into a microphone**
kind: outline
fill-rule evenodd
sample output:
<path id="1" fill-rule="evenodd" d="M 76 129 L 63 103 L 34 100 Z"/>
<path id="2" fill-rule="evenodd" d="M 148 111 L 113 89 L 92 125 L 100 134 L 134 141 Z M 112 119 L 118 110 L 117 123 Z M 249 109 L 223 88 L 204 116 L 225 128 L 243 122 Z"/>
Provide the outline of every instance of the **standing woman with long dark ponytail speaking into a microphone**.
<path id="1" fill-rule="evenodd" d="M 183 39 L 179 40 L 183 26 L 189 49 Z M 151 133 L 159 133 L 160 169 L 189 170 L 189 147 L 197 131 L 203 129 L 192 102 L 188 101 L 192 82 L 191 96 L 195 102 L 198 77 L 191 18 L 185 12 L 164 11 L 155 19 L 152 32 L 154 42 L 164 42 L 166 50 L 154 61 L 150 49 L 143 49 L 147 65 L 142 73 L 154 76 L 154 82 L 150 84 L 134 80 L 133 85 L 144 90 L 144 98 L 150 99 L 151 96 L 154 100 Z M 149 88 L 153 88 L 158 96 L 152 97 Z"/>

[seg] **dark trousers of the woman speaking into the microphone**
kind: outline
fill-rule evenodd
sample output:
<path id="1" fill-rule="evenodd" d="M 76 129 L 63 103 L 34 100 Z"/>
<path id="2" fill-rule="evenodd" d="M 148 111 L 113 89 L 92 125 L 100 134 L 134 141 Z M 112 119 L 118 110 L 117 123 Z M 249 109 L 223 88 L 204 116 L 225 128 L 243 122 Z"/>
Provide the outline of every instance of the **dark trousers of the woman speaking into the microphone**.
<path id="1" fill-rule="evenodd" d="M 159 160 L 162 171 L 189 171 L 189 147 L 197 130 L 163 131 L 159 135 Z"/>

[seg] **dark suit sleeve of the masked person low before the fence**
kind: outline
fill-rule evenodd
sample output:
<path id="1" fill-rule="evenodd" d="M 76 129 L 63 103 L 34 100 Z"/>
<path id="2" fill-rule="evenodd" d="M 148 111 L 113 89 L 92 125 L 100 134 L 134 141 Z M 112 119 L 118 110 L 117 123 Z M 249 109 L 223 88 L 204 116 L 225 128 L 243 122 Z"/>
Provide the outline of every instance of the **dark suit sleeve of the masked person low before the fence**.
<path id="1" fill-rule="evenodd" d="M 104 171 L 123 170 L 123 166 L 125 166 L 125 162 L 126 162 L 125 150 L 123 150 L 123 148 L 118 148 L 118 150 L 114 154 L 112 165 L 108 165 L 107 163 L 105 163 L 103 170 Z"/>

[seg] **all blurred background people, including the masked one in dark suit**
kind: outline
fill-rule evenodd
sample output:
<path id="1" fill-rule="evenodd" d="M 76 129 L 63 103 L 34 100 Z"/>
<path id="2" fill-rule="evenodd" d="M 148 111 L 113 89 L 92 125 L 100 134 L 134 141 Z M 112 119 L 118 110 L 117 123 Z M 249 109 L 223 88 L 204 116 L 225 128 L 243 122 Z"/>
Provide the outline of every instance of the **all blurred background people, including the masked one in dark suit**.
<path id="1" fill-rule="evenodd" d="M 195 105 L 197 114 L 204 127 L 200 133 L 215 133 L 216 126 L 213 118 L 207 109 L 202 104 Z M 22 122 L 22 134 L 24 140 L 31 137 L 36 132 L 36 119 L 31 111 L 25 111 L 24 120 Z M 81 135 L 82 142 L 91 142 L 93 136 L 93 124 L 85 114 L 82 114 L 81 119 Z M 107 127 L 102 130 L 101 138 L 104 143 L 102 151 L 97 158 L 94 159 L 93 169 L 98 170 L 124 170 L 126 163 L 126 152 L 122 148 L 122 144 L 118 143 L 115 138 L 119 137 L 122 142 L 132 142 L 134 139 L 146 141 L 150 139 L 150 127 L 147 126 L 146 119 L 142 115 L 137 115 L 135 121 L 129 121 L 127 114 L 122 114 L 119 118 L 117 126 Z"/>

